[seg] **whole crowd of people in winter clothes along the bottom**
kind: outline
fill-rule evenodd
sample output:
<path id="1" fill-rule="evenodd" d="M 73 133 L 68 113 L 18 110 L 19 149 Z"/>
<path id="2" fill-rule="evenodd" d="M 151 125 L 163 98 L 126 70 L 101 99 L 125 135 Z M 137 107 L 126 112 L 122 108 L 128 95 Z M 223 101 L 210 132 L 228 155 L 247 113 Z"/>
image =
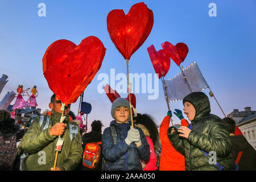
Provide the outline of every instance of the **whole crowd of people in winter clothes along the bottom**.
<path id="1" fill-rule="evenodd" d="M 27 131 L 0 110 L 0 171 L 256 170 L 254 148 L 232 118 L 210 114 L 203 92 L 188 94 L 183 105 L 190 123 L 175 109 L 180 125 L 170 126 L 169 110 L 158 130 L 148 114 L 133 115 L 131 123 L 129 101 L 117 98 L 110 111 L 113 121 L 103 133 L 100 120 L 92 122 L 89 133 L 80 130 L 71 105 L 60 122 L 61 101 L 55 94 L 51 111 L 36 117 Z"/>

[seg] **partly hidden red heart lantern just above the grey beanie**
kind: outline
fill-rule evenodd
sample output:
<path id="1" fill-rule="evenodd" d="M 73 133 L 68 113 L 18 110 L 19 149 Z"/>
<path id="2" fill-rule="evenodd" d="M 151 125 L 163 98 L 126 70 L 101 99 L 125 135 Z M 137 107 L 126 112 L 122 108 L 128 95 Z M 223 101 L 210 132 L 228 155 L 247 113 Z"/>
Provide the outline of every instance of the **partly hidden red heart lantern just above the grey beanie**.
<path id="1" fill-rule="evenodd" d="M 118 94 L 116 90 L 113 90 L 108 84 L 104 86 L 104 90 L 106 95 L 109 97 L 110 102 L 114 102 L 117 98 L 120 98 L 121 96 Z M 130 93 L 131 97 L 131 105 L 136 108 L 136 97 L 135 94 Z M 127 101 L 129 101 L 129 95 L 125 98 Z"/>

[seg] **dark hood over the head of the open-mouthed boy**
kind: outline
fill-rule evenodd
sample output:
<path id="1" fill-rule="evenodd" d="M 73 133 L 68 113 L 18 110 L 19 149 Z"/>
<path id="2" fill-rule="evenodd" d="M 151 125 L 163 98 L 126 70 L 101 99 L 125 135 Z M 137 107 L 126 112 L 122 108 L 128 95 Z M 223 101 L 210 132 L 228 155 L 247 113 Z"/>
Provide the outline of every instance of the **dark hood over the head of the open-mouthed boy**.
<path id="1" fill-rule="evenodd" d="M 192 92 L 188 94 L 183 99 L 183 105 L 185 102 L 190 102 L 196 109 L 196 115 L 193 119 L 194 122 L 210 113 L 209 98 L 203 92 Z"/>

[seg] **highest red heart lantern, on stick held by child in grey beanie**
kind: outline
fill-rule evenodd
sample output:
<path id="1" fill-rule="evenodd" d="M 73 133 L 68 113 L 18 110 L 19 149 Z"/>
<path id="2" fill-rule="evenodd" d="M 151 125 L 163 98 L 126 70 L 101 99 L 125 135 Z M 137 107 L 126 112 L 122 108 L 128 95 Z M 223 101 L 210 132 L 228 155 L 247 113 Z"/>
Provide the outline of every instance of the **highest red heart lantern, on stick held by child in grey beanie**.
<path id="1" fill-rule="evenodd" d="M 127 15 L 123 10 L 112 10 L 107 17 L 109 36 L 126 60 L 142 46 L 153 24 L 153 12 L 143 2 L 133 5 Z"/>

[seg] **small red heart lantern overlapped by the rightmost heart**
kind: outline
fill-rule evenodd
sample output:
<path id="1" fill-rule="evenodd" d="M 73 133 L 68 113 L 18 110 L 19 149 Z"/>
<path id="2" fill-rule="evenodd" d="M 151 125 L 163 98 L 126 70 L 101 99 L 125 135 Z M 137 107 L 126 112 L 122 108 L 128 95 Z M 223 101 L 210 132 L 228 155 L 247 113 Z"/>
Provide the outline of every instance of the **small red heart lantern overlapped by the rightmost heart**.
<path id="1" fill-rule="evenodd" d="M 155 72 L 158 74 L 158 78 L 166 76 L 170 69 L 170 57 L 166 55 L 163 49 L 156 51 L 153 45 L 147 48 L 147 52 L 148 55 L 150 55 L 151 62 Z"/>

